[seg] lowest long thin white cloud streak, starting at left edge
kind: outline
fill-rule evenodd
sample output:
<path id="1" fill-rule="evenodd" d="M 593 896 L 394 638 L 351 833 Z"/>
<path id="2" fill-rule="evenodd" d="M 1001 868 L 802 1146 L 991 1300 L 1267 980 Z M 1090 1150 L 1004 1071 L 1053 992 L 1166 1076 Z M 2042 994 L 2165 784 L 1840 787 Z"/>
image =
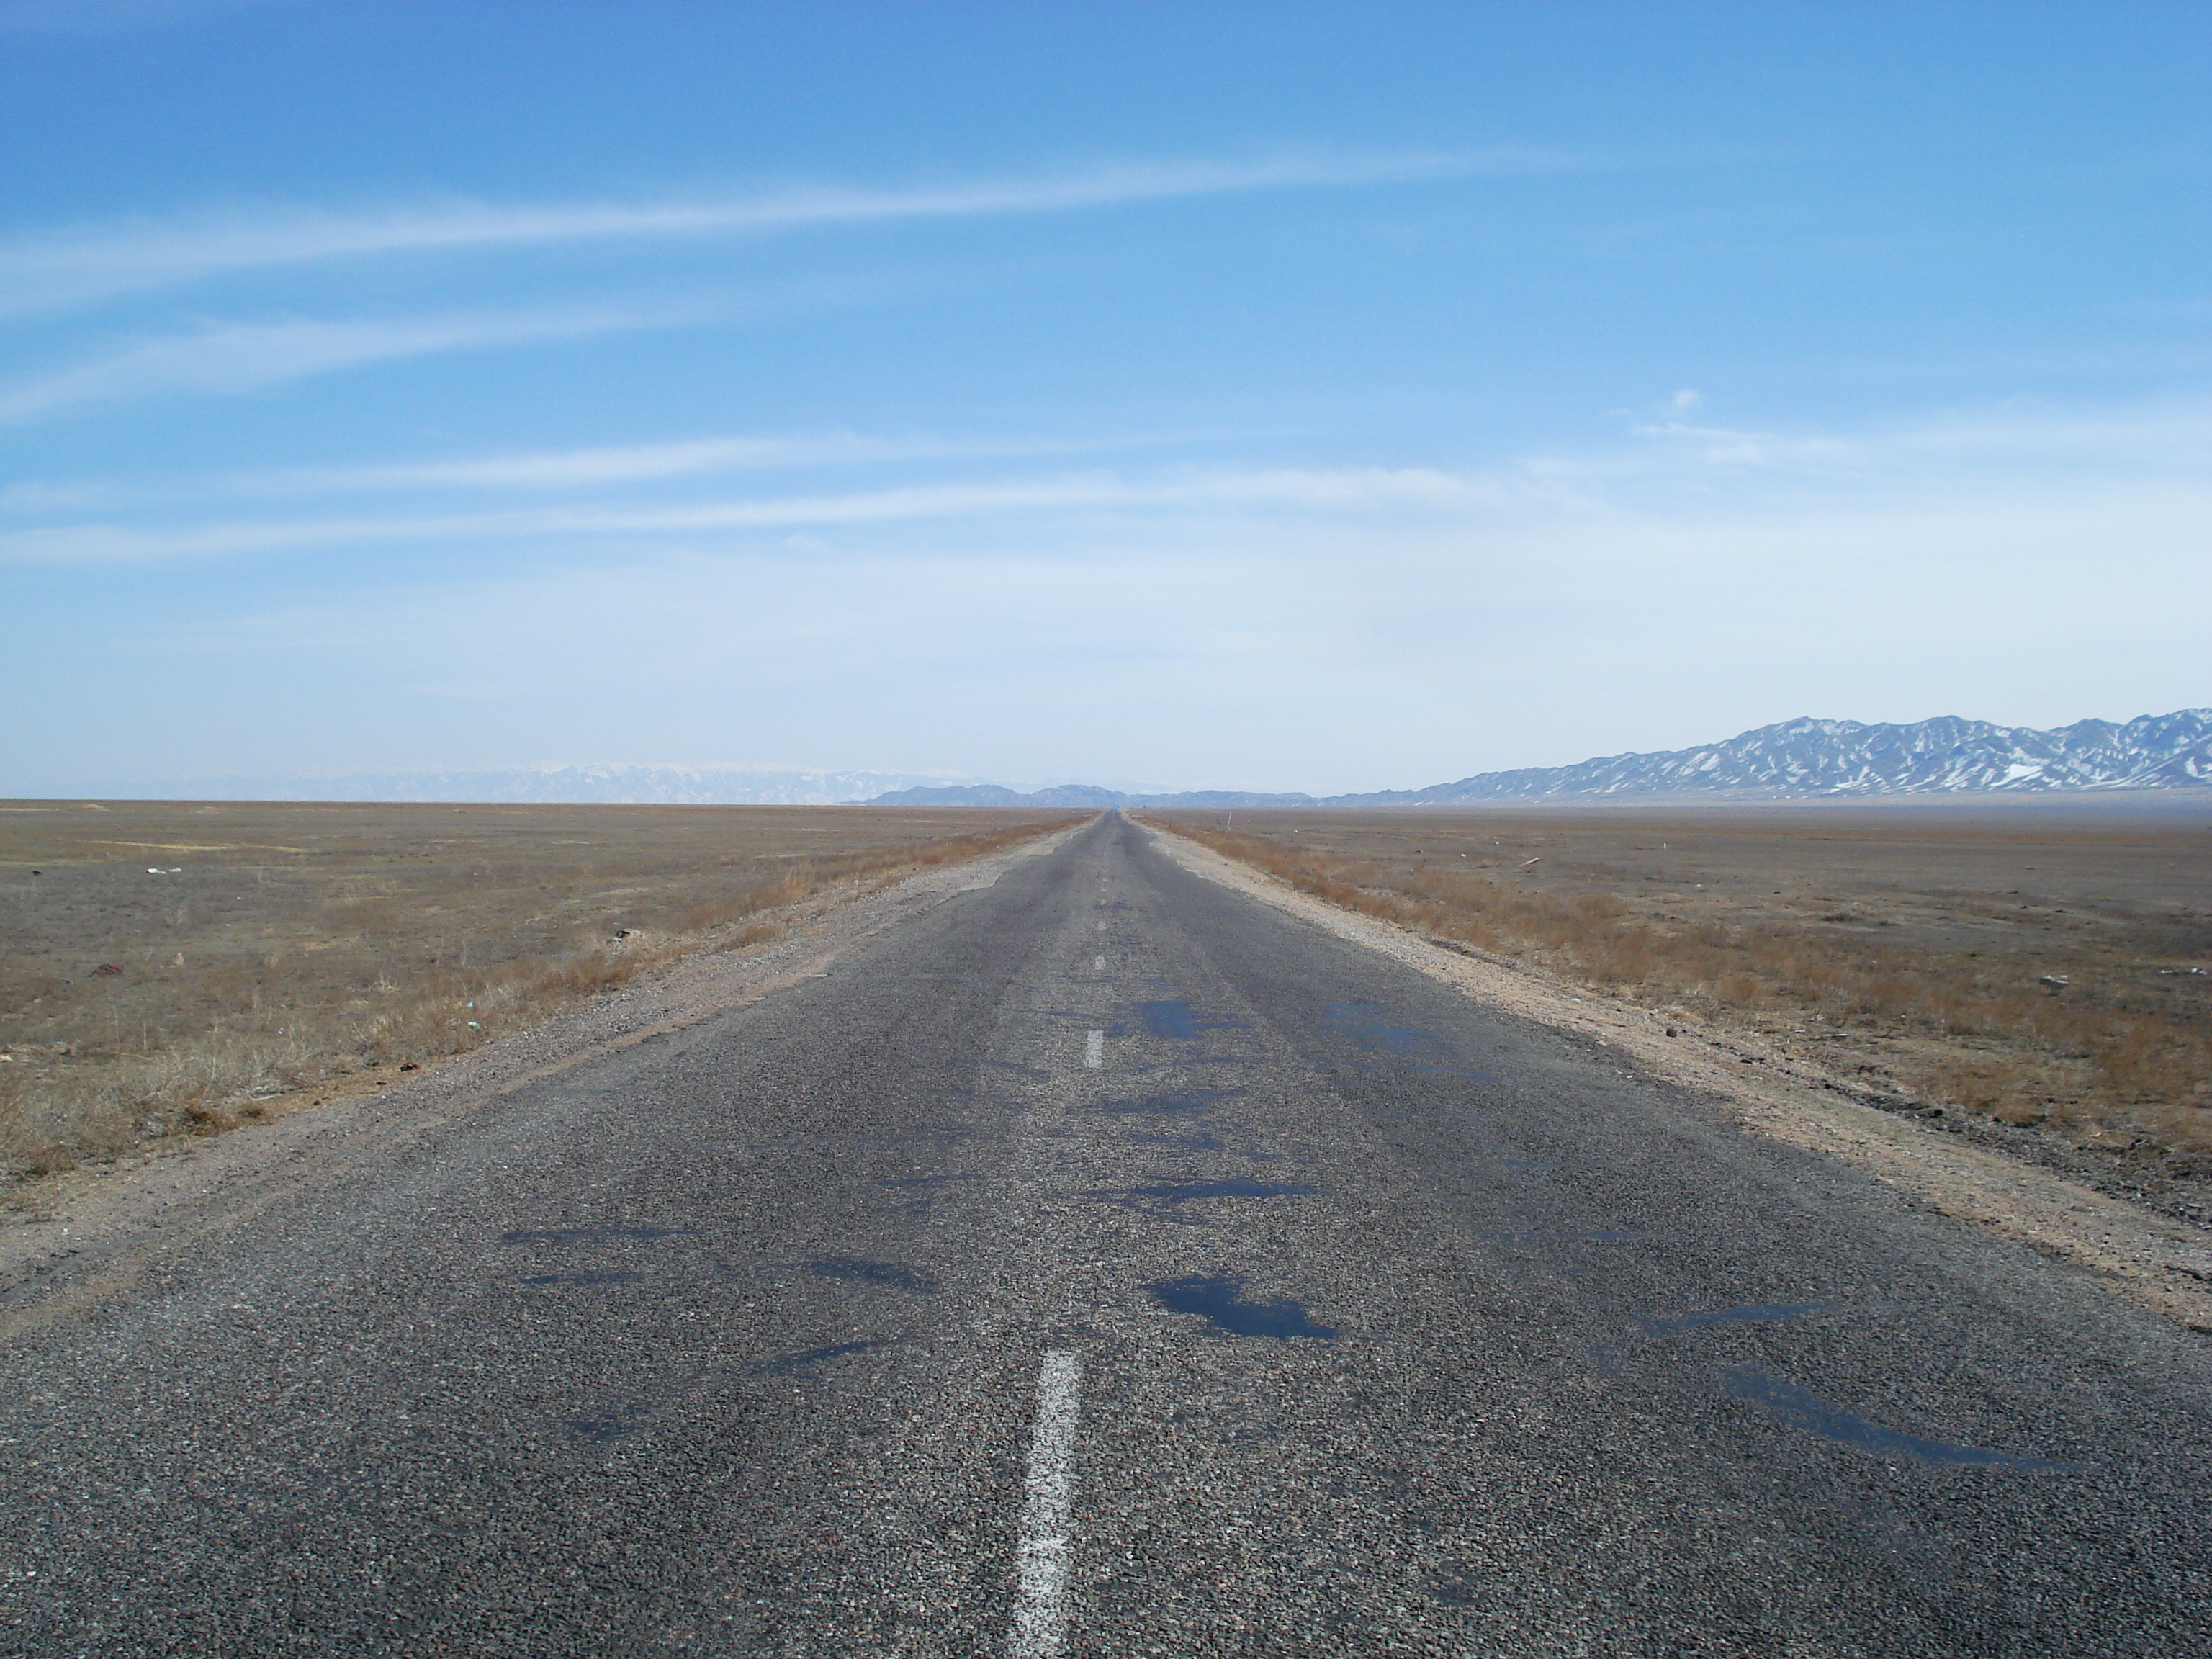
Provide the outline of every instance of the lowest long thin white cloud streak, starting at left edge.
<path id="1" fill-rule="evenodd" d="M 1467 511 L 1502 491 L 1482 478 L 1431 469 L 1241 471 L 1130 482 L 1084 473 L 1013 484 L 922 484 L 911 489 L 703 502 L 655 509 L 555 507 L 422 518 L 334 518 L 274 524 L 208 524 L 135 531 L 66 524 L 0 535 L 0 562 L 115 564 L 223 557 L 356 542 L 431 542 L 546 535 L 697 535 L 708 531 L 827 529 L 902 520 L 987 520 L 1015 513 L 1148 511 L 1225 507 L 1259 511 Z"/>

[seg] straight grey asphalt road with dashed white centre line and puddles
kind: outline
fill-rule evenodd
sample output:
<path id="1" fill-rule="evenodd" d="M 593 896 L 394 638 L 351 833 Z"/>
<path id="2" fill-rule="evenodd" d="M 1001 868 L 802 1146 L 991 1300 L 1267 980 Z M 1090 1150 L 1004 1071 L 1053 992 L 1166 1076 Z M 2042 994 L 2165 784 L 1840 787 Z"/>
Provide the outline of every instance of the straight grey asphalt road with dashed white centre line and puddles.
<path id="1" fill-rule="evenodd" d="M 1104 818 L 0 1354 L 35 1655 L 2203 1655 L 2205 1338 Z"/>

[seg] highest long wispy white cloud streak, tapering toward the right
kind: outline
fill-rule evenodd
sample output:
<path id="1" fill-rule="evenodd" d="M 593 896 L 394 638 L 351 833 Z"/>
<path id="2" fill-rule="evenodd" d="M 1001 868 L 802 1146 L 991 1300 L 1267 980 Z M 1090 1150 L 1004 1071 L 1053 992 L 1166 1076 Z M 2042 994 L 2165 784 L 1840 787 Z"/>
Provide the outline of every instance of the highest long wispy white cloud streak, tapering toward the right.
<path id="1" fill-rule="evenodd" d="M 376 212 L 276 210 L 77 226 L 0 243 L 0 312 L 86 305 L 223 272 L 323 259 L 467 252 L 655 237 L 768 234 L 810 226 L 1068 212 L 1177 197 L 1599 166 L 1551 150 L 1464 155 L 1155 161 L 1044 179 L 914 190 L 792 188 L 703 201 L 493 206 L 453 201 Z"/>

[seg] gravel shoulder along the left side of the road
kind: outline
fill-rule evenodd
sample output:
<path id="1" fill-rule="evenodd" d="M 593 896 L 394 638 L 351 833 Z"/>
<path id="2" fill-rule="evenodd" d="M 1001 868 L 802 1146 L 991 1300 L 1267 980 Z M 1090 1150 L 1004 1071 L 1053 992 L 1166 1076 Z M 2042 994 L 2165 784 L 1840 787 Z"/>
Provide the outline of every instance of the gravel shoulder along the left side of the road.
<path id="1" fill-rule="evenodd" d="M 38 1183 L 0 1221 L 0 1336 L 95 1307 L 166 1261 L 204 1250 L 270 1206 L 411 1146 L 526 1084 L 759 1002 L 956 894 L 1057 852 L 1084 825 L 1009 852 L 852 883 L 768 916 L 785 931 L 743 953 L 695 956 L 591 1006 L 418 1073 L 365 1075 L 363 1093 L 212 1137 L 164 1141 Z"/>

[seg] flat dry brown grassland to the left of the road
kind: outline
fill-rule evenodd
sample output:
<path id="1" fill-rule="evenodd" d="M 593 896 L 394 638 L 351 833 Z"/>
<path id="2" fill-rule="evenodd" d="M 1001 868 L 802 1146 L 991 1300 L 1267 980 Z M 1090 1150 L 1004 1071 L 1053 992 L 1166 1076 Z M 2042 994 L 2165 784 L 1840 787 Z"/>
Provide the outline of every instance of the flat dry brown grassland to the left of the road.
<path id="1" fill-rule="evenodd" d="M 1073 816 L 0 803 L 0 1170 L 414 1071 Z"/>

